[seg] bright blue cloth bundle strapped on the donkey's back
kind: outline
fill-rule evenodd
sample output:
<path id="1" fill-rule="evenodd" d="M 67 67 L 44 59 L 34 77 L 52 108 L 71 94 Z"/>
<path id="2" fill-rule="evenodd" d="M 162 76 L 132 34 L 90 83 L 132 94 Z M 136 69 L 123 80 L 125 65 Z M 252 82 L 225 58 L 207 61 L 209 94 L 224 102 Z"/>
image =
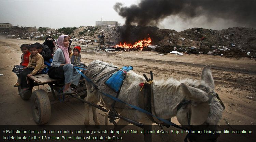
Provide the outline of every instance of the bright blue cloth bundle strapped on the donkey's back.
<path id="1" fill-rule="evenodd" d="M 125 66 L 122 69 L 118 70 L 114 74 L 112 74 L 109 79 L 105 81 L 105 84 L 110 87 L 113 91 L 119 92 L 121 86 L 123 85 L 123 81 L 125 79 L 126 72 L 133 70 L 132 66 Z"/>

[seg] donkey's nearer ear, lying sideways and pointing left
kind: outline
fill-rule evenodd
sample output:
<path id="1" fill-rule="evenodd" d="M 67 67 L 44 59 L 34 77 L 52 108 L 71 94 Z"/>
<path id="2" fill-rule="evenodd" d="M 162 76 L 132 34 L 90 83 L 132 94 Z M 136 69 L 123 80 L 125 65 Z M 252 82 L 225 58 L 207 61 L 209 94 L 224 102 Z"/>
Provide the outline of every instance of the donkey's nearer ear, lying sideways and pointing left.
<path id="1" fill-rule="evenodd" d="M 187 97 L 189 97 L 193 100 L 200 100 L 202 102 L 205 102 L 208 100 L 206 93 L 200 89 L 188 86 L 184 83 L 181 83 L 181 89 L 182 89 L 184 95 L 186 95 Z"/>

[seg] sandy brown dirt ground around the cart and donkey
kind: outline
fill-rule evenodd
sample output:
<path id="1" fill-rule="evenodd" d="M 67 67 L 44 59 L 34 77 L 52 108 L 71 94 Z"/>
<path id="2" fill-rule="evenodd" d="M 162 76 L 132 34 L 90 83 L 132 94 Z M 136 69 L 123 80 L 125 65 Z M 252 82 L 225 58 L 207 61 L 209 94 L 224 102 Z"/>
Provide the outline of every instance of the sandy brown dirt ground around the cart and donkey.
<path id="1" fill-rule="evenodd" d="M 0 36 L 0 125 L 35 125 L 30 100 L 24 101 L 13 85 L 17 81 L 11 72 L 13 65 L 20 63 L 22 52 L 19 47 L 23 43 L 43 41 L 9 39 Z M 225 58 L 210 55 L 157 55 L 150 51 L 130 52 L 96 52 L 95 48 L 82 48 L 82 61 L 87 65 L 95 60 L 113 63 L 119 67 L 130 65 L 133 71 L 142 75 L 154 73 L 154 79 L 192 78 L 200 79 L 202 68 L 212 66 L 215 91 L 219 94 L 226 109 L 219 125 L 255 125 L 256 124 L 256 61 L 255 58 Z M 48 86 L 37 86 L 33 90 L 44 89 Z M 48 93 L 51 95 L 51 93 Z M 251 99 L 248 96 L 252 97 Z M 50 97 L 52 99 L 52 97 Z M 84 105 L 82 102 L 70 99 L 64 103 L 51 106 L 52 116 L 47 125 L 83 125 Z M 99 113 L 103 113 L 98 110 Z M 90 112 L 91 113 L 91 112 Z M 100 123 L 104 118 L 98 115 Z M 176 118 L 172 122 L 178 123 Z M 93 125 L 93 120 L 90 119 Z"/>

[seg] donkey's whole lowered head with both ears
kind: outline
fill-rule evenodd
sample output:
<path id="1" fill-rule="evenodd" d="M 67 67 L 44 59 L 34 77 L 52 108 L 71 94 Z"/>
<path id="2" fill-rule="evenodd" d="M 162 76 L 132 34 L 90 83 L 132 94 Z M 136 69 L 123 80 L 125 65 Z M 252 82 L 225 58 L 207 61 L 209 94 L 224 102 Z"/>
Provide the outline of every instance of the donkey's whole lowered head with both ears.
<path id="1" fill-rule="evenodd" d="M 211 66 L 203 68 L 198 84 L 180 84 L 184 100 L 178 105 L 177 120 L 181 125 L 216 125 L 222 117 L 223 107 L 214 92 Z"/>

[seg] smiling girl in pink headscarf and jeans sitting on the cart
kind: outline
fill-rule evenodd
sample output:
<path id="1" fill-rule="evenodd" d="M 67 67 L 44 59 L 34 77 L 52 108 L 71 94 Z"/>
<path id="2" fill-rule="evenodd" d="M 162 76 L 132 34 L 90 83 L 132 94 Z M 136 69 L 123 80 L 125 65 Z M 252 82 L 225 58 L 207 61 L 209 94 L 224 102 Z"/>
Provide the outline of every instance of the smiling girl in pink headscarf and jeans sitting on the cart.
<path id="1" fill-rule="evenodd" d="M 81 74 L 73 70 L 73 65 L 70 64 L 68 53 L 69 40 L 67 35 L 61 35 L 57 39 L 58 49 L 53 54 L 52 68 L 49 69 L 48 75 L 55 79 L 65 79 L 63 93 L 71 93 L 71 83 L 78 85 Z"/>

